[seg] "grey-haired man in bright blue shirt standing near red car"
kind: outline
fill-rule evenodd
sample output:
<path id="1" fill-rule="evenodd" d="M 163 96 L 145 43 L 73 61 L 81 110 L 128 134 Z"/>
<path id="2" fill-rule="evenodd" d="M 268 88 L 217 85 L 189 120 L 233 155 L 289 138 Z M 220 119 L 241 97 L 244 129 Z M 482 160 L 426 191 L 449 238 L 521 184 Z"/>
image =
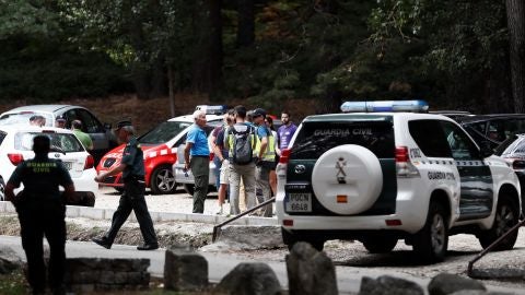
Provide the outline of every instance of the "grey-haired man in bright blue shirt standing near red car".
<path id="1" fill-rule="evenodd" d="M 210 180 L 210 149 L 208 148 L 208 137 L 205 131 L 205 111 L 196 110 L 194 113 L 194 120 L 195 123 L 190 127 L 186 135 L 184 168 L 185 170 L 191 168 L 191 174 L 195 179 L 194 213 L 203 213 Z"/>

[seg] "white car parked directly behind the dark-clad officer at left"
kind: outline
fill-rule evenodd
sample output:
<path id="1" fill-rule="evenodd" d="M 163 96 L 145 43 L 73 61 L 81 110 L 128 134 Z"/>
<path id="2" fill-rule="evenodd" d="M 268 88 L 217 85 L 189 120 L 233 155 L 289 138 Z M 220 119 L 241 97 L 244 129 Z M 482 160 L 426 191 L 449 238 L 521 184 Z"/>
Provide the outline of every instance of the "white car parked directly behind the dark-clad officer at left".
<path id="1" fill-rule="evenodd" d="M 51 143 L 49 157 L 61 160 L 71 175 L 77 193 L 74 199 L 78 202 L 68 204 L 93 206 L 95 193 L 98 190 L 98 185 L 94 180 L 95 162 L 74 133 L 71 130 L 55 127 L 40 128 L 25 125 L 0 126 L 0 201 L 4 200 L 4 185 L 16 165 L 35 156 L 33 138 L 38 134 L 49 137 Z"/>

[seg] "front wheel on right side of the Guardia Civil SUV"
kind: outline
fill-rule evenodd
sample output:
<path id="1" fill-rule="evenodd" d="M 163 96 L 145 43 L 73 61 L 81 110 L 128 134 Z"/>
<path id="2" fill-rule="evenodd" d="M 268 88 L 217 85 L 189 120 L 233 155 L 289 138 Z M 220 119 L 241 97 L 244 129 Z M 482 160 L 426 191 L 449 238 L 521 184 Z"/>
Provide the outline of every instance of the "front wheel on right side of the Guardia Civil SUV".
<path id="1" fill-rule="evenodd" d="M 479 244 L 481 247 L 489 247 L 494 240 L 504 235 L 511 227 L 516 225 L 518 220 L 518 210 L 517 205 L 514 202 L 503 197 L 498 201 L 498 206 L 495 208 L 494 224 L 492 228 L 483 231 L 478 235 Z M 514 244 L 517 239 L 517 231 L 506 236 L 503 240 L 498 244 L 492 250 L 502 251 L 510 250 L 514 247 Z"/>

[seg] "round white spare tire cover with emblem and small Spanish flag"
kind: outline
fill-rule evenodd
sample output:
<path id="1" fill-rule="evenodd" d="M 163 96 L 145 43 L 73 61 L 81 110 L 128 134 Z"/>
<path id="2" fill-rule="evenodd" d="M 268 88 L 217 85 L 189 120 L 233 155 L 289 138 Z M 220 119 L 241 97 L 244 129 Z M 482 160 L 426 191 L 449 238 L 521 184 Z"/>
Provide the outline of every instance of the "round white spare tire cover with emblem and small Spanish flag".
<path id="1" fill-rule="evenodd" d="M 315 163 L 312 186 L 317 200 L 338 214 L 372 206 L 383 189 L 381 164 L 370 150 L 345 144 L 328 150 Z"/>

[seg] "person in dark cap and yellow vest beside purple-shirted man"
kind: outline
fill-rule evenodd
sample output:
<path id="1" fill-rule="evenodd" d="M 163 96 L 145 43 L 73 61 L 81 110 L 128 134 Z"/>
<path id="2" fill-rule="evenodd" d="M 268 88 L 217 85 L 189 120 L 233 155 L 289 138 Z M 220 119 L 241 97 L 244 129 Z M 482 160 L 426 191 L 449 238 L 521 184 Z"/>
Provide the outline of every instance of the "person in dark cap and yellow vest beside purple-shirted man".
<path id="1" fill-rule="evenodd" d="M 266 110 L 254 109 L 254 123 L 257 126 L 257 158 L 255 162 L 255 181 L 257 201 L 262 203 L 271 198 L 270 169 L 276 165 L 276 138 L 265 122 Z M 262 216 L 271 217 L 273 204 L 269 203 L 262 209 Z"/>

